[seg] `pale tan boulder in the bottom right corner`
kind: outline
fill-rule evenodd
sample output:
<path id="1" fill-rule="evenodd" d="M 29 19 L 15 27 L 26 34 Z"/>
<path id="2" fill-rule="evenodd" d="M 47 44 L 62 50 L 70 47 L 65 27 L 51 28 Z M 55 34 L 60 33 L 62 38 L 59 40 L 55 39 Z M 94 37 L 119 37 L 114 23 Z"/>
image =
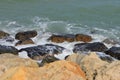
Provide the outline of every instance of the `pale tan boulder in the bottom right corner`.
<path id="1" fill-rule="evenodd" d="M 120 61 L 114 61 L 105 65 L 96 71 L 94 80 L 119 80 L 120 79 Z"/>

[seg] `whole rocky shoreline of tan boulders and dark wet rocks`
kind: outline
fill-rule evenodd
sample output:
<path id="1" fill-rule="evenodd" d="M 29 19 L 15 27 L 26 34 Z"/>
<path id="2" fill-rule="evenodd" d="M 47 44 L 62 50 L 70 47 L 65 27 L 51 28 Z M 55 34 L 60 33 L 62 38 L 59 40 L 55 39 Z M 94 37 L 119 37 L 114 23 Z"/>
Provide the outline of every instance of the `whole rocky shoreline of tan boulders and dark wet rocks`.
<path id="1" fill-rule="evenodd" d="M 92 36 L 86 34 L 52 34 L 47 41 L 56 44 L 21 49 L 15 47 L 35 44 L 32 38 L 37 35 L 37 31 L 31 30 L 18 32 L 15 38 L 12 38 L 9 33 L 0 31 L 0 39 L 6 42 L 17 40 L 14 46 L 0 45 L 0 80 L 120 79 L 120 47 L 114 46 L 118 42 L 110 39 L 92 42 Z M 66 50 L 65 47 L 57 45 L 63 42 L 78 43 L 74 44 L 71 55 L 60 60 L 55 55 Z M 108 48 L 106 43 L 113 46 Z M 28 59 L 18 57 L 23 51 L 27 52 Z"/>

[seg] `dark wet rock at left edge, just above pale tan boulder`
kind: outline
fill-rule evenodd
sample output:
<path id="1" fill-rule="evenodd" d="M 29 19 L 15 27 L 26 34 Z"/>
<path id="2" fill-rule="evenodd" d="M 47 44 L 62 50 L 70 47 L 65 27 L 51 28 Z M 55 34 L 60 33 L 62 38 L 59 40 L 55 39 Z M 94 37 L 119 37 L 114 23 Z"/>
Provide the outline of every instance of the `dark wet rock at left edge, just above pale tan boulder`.
<path id="1" fill-rule="evenodd" d="M 0 45 L 0 54 L 3 54 L 3 53 L 12 53 L 17 55 L 18 50 L 13 46 Z"/>

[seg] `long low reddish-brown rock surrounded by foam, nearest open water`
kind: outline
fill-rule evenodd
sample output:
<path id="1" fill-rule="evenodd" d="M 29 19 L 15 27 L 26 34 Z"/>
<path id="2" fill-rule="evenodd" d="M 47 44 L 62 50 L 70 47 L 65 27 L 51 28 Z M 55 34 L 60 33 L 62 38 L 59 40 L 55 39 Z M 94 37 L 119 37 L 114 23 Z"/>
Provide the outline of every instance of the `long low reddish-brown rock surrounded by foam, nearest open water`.
<path id="1" fill-rule="evenodd" d="M 90 42 L 92 41 L 92 37 L 84 34 L 65 34 L 65 35 L 55 35 L 53 34 L 51 37 L 49 37 L 48 40 L 51 40 L 52 42 L 56 43 L 62 43 L 62 42 L 74 42 L 74 41 L 83 41 L 83 42 Z"/>

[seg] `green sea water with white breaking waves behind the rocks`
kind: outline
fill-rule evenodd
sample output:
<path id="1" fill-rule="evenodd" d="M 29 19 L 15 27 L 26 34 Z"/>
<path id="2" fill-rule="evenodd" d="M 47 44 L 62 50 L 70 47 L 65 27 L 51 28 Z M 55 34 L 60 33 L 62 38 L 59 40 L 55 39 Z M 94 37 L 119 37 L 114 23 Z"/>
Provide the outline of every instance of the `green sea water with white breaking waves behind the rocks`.
<path id="1" fill-rule="evenodd" d="M 120 38 L 120 0 L 0 0 L 0 29 Z"/>

